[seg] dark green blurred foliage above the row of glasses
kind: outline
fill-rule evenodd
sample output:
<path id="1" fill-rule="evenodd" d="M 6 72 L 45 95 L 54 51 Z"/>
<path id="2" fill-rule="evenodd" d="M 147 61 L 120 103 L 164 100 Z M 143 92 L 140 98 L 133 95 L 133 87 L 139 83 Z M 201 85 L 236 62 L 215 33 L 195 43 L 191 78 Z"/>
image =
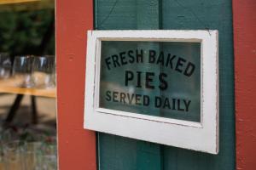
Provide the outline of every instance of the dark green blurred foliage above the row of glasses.
<path id="1" fill-rule="evenodd" d="M 38 54 L 53 17 L 54 9 L 0 13 L 0 53 Z M 55 54 L 54 33 L 46 44 L 45 54 Z"/>

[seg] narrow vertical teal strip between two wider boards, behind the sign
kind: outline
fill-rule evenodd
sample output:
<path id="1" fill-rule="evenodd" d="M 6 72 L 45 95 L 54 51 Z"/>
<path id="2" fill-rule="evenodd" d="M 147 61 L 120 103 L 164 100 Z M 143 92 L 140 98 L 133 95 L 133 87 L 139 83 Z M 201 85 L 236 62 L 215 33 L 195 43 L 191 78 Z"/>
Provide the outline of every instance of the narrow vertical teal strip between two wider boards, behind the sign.
<path id="1" fill-rule="evenodd" d="M 137 29 L 138 30 L 158 30 L 160 29 L 160 2 L 158 0 L 137 0 Z M 159 49 L 160 45 L 140 44 L 139 48 Z M 147 56 L 147 55 L 146 55 Z M 152 65 L 143 65 L 143 71 L 154 71 L 156 75 L 160 72 L 160 67 Z M 156 93 L 156 92 L 155 92 Z M 149 95 L 160 95 L 149 94 Z M 148 106 L 150 107 L 150 106 Z M 150 108 L 148 108 L 150 110 Z M 159 116 L 159 112 L 155 112 Z M 161 170 L 162 169 L 162 154 L 161 145 L 137 140 L 137 169 L 138 170 Z"/>

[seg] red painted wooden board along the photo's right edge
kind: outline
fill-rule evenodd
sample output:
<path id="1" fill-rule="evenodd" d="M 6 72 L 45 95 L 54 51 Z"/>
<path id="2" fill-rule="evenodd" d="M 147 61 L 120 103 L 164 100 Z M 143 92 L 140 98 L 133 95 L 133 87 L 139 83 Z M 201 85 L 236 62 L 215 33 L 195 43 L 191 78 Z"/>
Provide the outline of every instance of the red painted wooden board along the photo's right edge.
<path id="1" fill-rule="evenodd" d="M 233 0 L 236 169 L 256 168 L 256 1 Z"/>

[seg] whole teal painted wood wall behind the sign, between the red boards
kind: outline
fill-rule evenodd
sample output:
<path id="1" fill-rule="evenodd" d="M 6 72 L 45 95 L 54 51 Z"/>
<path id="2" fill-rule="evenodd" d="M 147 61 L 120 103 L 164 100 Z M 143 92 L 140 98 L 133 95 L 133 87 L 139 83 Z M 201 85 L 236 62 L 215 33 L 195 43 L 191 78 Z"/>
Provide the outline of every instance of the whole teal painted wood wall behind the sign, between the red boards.
<path id="1" fill-rule="evenodd" d="M 220 148 L 218 156 L 99 133 L 99 168 L 101 170 L 235 169 L 231 0 L 162 0 L 158 3 L 154 0 L 144 2 L 96 0 L 95 5 L 96 29 L 195 30 L 209 28 L 219 31 Z M 157 20 L 155 16 L 161 20 Z"/>

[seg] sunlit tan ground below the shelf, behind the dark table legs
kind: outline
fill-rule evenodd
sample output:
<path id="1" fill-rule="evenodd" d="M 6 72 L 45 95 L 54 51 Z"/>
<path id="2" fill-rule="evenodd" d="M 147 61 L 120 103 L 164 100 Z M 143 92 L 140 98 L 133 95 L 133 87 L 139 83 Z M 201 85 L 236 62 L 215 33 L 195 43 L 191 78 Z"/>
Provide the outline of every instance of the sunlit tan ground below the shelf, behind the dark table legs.
<path id="1" fill-rule="evenodd" d="M 0 121 L 3 123 L 11 105 L 15 101 L 16 94 L 0 94 Z M 38 124 L 32 125 L 31 97 L 25 95 L 21 101 L 20 108 L 16 112 L 15 118 L 11 123 L 17 127 L 34 127 L 46 133 L 55 133 L 56 110 L 55 99 L 36 97 L 38 110 Z"/>

